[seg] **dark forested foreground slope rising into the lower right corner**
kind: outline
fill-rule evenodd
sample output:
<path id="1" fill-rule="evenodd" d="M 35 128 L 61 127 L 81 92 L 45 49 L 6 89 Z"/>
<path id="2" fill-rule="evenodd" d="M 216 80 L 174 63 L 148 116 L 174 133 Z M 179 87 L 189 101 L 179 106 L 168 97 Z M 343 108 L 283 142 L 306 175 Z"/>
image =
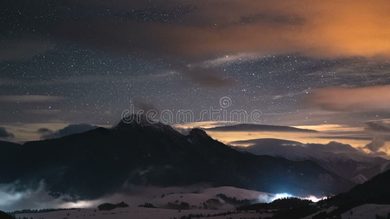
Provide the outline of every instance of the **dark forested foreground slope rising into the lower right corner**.
<path id="1" fill-rule="evenodd" d="M 341 219 L 341 215 L 345 215 L 348 218 L 363 218 L 362 213 L 367 213 L 364 212 L 364 209 L 368 211 L 372 210 L 372 207 L 367 208 L 367 204 L 390 204 L 390 191 L 388 189 L 389 182 L 390 170 L 373 177 L 365 183 L 356 185 L 348 192 L 341 193 L 316 203 L 310 203 L 308 201 L 295 198 L 277 200 L 277 203 L 281 202 L 287 204 L 287 206 L 274 211 L 271 218 Z M 359 214 L 357 215 L 352 212 L 351 209 L 358 206 L 361 207 L 359 207 Z M 239 209 L 274 210 L 275 208 L 278 208 L 278 206 L 275 206 L 273 203 L 257 203 L 242 206 Z M 378 207 L 374 205 L 374 208 Z M 367 215 L 371 215 L 370 218 L 374 218 L 374 214 L 372 214 L 372 212 L 368 212 Z"/>

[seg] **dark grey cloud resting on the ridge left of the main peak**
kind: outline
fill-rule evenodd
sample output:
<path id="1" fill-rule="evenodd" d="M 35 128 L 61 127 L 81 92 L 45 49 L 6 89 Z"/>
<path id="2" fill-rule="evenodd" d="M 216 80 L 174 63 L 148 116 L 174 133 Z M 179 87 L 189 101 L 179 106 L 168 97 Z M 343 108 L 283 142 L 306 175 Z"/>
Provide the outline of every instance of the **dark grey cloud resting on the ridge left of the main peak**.
<path id="1" fill-rule="evenodd" d="M 92 126 L 89 124 L 74 124 L 74 125 L 69 125 L 65 128 L 61 128 L 55 132 L 53 132 L 48 128 L 39 128 L 38 132 L 43 134 L 41 137 L 42 139 L 51 139 L 51 138 L 60 138 L 71 134 L 86 132 L 96 128 L 98 128 L 98 126 Z"/>

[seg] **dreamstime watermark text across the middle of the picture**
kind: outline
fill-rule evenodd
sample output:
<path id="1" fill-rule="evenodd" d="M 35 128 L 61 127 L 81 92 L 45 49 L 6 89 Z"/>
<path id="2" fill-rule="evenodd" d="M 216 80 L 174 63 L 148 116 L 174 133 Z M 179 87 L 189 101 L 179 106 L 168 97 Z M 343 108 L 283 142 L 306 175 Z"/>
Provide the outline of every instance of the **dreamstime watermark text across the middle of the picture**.
<path id="1" fill-rule="evenodd" d="M 210 107 L 209 109 L 200 110 L 195 116 L 194 110 L 162 110 L 161 112 L 157 110 L 136 111 L 135 106 L 131 104 L 130 109 L 124 110 L 121 116 L 124 123 L 141 123 L 143 122 L 141 120 L 146 120 L 146 122 L 152 124 L 158 122 L 164 124 L 187 124 L 204 121 L 269 124 L 268 119 L 262 118 L 263 112 L 261 110 L 252 110 L 251 112 L 242 109 L 229 110 L 228 108 L 232 106 L 232 99 L 228 96 L 219 99 L 219 106 L 219 109 Z M 145 117 L 139 115 L 145 115 Z"/>

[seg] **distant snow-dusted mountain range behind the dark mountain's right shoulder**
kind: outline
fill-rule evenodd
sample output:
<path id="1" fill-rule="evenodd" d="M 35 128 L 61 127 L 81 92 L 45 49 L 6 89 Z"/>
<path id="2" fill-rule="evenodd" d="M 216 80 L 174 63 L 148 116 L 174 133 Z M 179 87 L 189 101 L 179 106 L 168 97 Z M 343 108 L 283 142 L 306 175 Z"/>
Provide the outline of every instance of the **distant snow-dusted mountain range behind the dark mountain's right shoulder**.
<path id="1" fill-rule="evenodd" d="M 390 168 L 390 161 L 364 155 L 350 145 L 330 142 L 327 145 L 303 144 L 282 139 L 253 139 L 233 142 L 242 151 L 256 155 L 283 157 L 292 161 L 310 160 L 355 183 L 364 183 Z"/>

